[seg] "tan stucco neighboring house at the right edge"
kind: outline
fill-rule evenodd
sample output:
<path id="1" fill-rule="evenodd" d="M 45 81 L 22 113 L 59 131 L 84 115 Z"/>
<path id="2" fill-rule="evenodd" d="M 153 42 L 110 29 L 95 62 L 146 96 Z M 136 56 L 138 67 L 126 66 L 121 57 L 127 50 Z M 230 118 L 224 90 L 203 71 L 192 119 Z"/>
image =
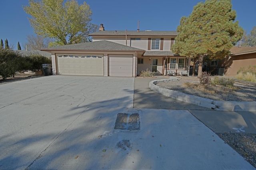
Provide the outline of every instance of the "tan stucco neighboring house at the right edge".
<path id="1" fill-rule="evenodd" d="M 230 55 L 222 60 L 204 62 L 204 70 L 212 75 L 235 76 L 241 67 L 256 65 L 256 47 L 238 47 L 230 49 Z"/>

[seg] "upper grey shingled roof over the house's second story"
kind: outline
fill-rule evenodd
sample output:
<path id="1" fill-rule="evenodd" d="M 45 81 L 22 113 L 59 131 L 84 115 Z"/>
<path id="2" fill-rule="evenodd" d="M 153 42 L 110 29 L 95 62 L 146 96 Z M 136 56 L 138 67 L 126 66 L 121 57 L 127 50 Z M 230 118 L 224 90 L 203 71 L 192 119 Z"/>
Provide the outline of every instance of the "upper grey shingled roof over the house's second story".
<path id="1" fill-rule="evenodd" d="M 90 36 L 125 36 L 126 31 L 97 31 Z M 127 31 L 128 36 L 170 36 L 176 37 L 177 31 Z"/>

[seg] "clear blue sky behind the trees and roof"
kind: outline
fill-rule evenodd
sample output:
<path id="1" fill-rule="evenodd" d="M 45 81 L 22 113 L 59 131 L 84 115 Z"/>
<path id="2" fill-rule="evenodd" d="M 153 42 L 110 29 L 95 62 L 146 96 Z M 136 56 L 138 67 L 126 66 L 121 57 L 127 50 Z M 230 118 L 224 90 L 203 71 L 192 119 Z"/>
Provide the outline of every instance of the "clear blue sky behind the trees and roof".
<path id="1" fill-rule="evenodd" d="M 64 0 L 66 2 L 66 0 Z M 93 12 L 92 23 L 104 24 L 105 30 L 176 31 L 182 16 L 189 16 L 198 2 L 205 0 L 86 0 Z M 78 0 L 82 4 L 84 0 Z M 256 26 L 256 0 L 232 0 L 236 20 L 249 33 Z M 23 49 L 26 36 L 33 35 L 28 17 L 22 6 L 28 0 L 1 0 L 0 39 L 8 39 L 9 46 Z"/>

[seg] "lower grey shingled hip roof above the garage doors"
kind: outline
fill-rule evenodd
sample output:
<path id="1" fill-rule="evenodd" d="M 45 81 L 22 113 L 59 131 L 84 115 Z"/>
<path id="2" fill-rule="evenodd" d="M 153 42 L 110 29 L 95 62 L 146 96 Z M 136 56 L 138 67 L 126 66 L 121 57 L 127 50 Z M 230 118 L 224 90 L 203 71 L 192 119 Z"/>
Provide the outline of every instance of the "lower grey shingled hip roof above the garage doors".
<path id="1" fill-rule="evenodd" d="M 126 45 L 114 43 L 111 41 L 94 41 L 88 43 L 78 43 L 70 45 L 62 45 L 51 47 L 47 49 L 40 49 L 41 51 L 137 51 L 145 52 L 145 50 L 129 47 Z"/>

